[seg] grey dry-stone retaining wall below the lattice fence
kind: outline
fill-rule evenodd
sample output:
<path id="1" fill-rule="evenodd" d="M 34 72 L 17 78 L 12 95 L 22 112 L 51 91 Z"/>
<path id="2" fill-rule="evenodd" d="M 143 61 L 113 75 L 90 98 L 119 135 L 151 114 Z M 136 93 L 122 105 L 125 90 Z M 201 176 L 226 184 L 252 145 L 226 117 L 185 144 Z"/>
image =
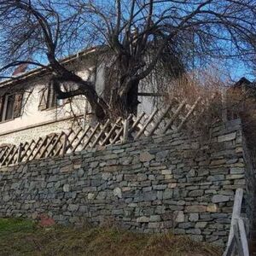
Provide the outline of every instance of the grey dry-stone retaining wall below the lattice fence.
<path id="1" fill-rule="evenodd" d="M 253 182 L 237 119 L 213 128 L 207 143 L 172 132 L 3 167 L 0 216 L 47 213 L 61 224 L 113 222 L 224 246 L 237 188 L 247 189 L 245 212 L 253 219 Z"/>

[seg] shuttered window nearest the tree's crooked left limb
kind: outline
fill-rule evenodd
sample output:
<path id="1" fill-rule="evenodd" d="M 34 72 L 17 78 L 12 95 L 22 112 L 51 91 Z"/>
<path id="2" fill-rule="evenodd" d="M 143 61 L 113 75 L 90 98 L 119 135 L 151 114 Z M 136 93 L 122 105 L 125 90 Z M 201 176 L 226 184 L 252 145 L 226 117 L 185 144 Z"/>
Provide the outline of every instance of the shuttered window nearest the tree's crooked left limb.
<path id="1" fill-rule="evenodd" d="M 57 99 L 56 92 L 51 84 L 45 86 L 41 90 L 41 96 L 39 101 L 39 110 L 44 110 L 47 108 L 55 108 L 62 106 L 67 102 L 67 100 Z"/>

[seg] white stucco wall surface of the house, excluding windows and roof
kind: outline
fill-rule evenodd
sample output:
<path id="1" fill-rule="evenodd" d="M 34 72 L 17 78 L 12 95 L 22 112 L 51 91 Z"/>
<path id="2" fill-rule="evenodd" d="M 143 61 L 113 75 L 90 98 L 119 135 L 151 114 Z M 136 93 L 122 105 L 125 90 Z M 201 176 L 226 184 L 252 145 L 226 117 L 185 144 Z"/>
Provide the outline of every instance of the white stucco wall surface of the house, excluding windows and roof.
<path id="1" fill-rule="evenodd" d="M 80 63 L 75 68 L 78 68 L 76 73 L 83 79 L 96 79 L 96 91 L 101 96 L 104 90 L 104 67 L 97 67 L 96 73 L 89 62 Z M 24 83 L 26 93 L 23 97 L 22 105 L 24 105 L 24 108 L 22 114 L 19 118 L 0 123 L 0 144 L 22 143 L 37 137 L 43 137 L 51 132 L 67 130 L 73 126 L 73 121 L 68 119 L 73 117 L 74 114 L 83 116 L 85 111 L 90 113 L 89 103 L 86 102 L 84 96 L 73 97 L 72 105 L 67 103 L 58 108 L 39 110 L 41 91 L 46 83 L 48 83 L 48 79 L 45 77 L 41 79 L 36 77 Z M 152 92 L 149 88 L 145 89 L 145 85 L 139 91 L 142 90 Z M 150 114 L 155 108 L 154 97 L 140 96 L 138 100 L 141 102 L 138 105 L 138 113 L 144 111 Z M 25 102 L 26 104 L 24 104 Z"/>

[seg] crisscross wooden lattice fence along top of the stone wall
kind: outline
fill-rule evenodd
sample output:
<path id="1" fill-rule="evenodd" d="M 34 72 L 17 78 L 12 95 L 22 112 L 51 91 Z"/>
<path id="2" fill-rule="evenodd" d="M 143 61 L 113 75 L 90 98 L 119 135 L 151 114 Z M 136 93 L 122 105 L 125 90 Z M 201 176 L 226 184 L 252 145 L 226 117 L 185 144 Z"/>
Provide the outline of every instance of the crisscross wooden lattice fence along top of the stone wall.
<path id="1" fill-rule="evenodd" d="M 20 145 L 0 146 L 0 166 L 9 166 L 34 159 L 70 154 L 86 148 L 103 147 L 115 143 L 125 143 L 140 137 L 166 134 L 169 131 L 179 131 L 189 118 L 195 118 L 195 109 L 207 102 L 198 97 L 193 105 L 186 101 L 173 99 L 165 109 L 154 109 L 147 115 L 130 115 L 127 119 L 117 119 L 115 123 L 109 120 L 105 124 L 86 126 L 85 129 L 51 133 L 38 140 L 20 143 Z M 201 109 L 201 108 L 200 108 Z"/>

